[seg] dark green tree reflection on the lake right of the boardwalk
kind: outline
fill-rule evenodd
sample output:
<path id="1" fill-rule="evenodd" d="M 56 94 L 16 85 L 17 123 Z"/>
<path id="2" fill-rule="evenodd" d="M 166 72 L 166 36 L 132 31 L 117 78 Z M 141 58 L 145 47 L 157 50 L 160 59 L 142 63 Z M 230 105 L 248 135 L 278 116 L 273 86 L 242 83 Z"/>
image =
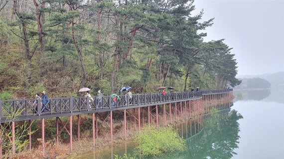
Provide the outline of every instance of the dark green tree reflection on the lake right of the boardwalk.
<path id="1" fill-rule="evenodd" d="M 184 154 L 190 159 L 230 159 L 238 148 L 239 119 L 243 116 L 236 110 L 225 111 L 204 119 L 203 136 L 194 145 L 188 145 Z"/>

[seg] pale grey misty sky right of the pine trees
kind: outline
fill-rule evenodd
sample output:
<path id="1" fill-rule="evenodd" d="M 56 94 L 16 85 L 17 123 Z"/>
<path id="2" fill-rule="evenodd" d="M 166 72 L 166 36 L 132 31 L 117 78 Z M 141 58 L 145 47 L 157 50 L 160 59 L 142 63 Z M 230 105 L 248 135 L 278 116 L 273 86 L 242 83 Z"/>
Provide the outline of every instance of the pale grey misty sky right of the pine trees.
<path id="1" fill-rule="evenodd" d="M 238 75 L 284 71 L 284 0 L 195 0 L 203 20 L 215 17 L 204 41 L 226 39 Z"/>

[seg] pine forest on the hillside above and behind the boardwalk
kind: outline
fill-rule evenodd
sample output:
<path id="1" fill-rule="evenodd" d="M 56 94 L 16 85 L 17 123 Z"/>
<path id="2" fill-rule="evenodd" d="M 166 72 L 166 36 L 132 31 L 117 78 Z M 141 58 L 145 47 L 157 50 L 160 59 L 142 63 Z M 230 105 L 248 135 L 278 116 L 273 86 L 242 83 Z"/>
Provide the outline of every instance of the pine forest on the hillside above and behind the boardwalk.
<path id="1" fill-rule="evenodd" d="M 0 99 L 222 89 L 241 83 L 193 0 L 0 0 Z M 220 33 L 221 34 L 221 33 Z"/>

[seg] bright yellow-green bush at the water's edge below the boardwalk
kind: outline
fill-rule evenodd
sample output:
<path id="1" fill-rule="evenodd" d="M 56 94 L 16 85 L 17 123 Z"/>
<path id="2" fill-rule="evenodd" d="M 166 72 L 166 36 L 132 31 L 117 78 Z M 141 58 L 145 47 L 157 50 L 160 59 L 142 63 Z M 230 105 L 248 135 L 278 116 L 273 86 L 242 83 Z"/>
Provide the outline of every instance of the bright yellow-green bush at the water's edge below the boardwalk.
<path id="1" fill-rule="evenodd" d="M 140 144 L 135 154 L 146 157 L 178 153 L 186 149 L 185 141 L 170 127 L 146 126 L 138 133 L 136 141 Z"/>

